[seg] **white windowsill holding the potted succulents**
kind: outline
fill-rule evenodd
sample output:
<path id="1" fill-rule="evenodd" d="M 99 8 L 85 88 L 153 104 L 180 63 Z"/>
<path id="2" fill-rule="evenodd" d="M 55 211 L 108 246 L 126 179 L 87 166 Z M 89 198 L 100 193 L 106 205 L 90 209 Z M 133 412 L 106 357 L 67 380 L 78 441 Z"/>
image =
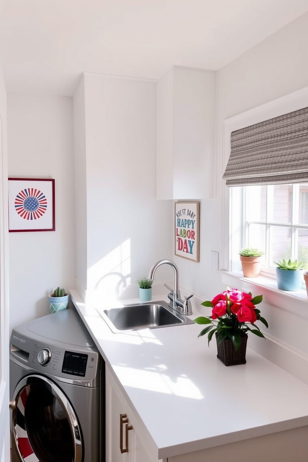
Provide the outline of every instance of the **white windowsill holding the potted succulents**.
<path id="1" fill-rule="evenodd" d="M 289 292 L 278 289 L 277 281 L 266 276 L 258 278 L 244 278 L 242 271 L 223 271 L 219 270 L 222 282 L 228 286 L 240 288 L 245 292 L 252 292 L 263 295 L 263 300 L 267 303 L 279 306 L 284 310 L 296 313 L 299 316 L 308 318 L 308 300 L 307 292 L 304 289 Z M 255 288 L 258 288 L 256 293 Z"/>

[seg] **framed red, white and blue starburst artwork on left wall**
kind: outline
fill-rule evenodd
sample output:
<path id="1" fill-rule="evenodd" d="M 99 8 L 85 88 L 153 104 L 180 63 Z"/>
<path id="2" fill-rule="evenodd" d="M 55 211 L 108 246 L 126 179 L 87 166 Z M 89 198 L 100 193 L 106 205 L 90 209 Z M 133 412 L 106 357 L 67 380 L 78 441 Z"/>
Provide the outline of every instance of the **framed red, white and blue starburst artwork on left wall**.
<path id="1" fill-rule="evenodd" d="M 54 231 L 54 179 L 8 179 L 9 232 Z"/>

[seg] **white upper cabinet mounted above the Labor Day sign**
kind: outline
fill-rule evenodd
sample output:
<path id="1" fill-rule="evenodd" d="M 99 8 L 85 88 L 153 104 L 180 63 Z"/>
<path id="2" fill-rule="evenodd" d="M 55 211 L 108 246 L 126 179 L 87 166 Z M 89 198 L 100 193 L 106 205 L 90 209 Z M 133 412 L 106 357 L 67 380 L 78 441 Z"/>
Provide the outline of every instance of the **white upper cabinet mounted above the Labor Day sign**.
<path id="1" fill-rule="evenodd" d="M 172 67 L 156 83 L 156 198 L 211 199 L 215 73 Z"/>

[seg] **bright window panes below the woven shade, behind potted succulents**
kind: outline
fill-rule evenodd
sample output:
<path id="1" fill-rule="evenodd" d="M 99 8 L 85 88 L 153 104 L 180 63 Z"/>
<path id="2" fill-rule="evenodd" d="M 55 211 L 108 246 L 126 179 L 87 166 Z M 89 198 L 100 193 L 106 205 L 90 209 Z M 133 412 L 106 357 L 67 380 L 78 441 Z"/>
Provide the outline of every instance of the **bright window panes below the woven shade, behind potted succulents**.
<path id="1" fill-rule="evenodd" d="M 284 257 L 308 265 L 308 183 L 231 188 L 231 202 L 234 256 L 236 246 L 237 255 L 241 247 L 262 249 L 267 274 L 275 274 L 274 262 Z"/>

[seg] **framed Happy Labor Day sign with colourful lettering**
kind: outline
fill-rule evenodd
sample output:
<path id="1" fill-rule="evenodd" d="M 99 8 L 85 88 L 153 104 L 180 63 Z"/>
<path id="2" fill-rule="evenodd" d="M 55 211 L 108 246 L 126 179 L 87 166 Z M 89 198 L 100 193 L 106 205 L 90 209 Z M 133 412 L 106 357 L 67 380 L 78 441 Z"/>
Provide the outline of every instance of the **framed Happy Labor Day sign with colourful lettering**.
<path id="1" fill-rule="evenodd" d="M 199 202 L 175 202 L 175 255 L 199 261 Z"/>

